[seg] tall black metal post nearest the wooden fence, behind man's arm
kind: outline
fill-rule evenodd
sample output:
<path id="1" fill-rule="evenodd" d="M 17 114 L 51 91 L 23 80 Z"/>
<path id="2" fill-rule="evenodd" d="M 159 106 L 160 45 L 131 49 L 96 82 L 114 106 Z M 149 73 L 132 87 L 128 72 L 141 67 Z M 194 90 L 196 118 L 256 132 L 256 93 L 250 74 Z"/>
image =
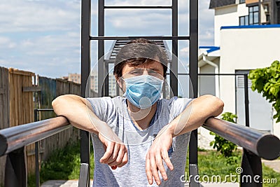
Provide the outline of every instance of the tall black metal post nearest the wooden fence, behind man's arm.
<path id="1" fill-rule="evenodd" d="M 80 95 L 85 97 L 87 78 L 90 76 L 90 27 L 91 0 L 81 2 L 81 85 Z M 80 130 L 80 162 L 90 166 L 90 133 Z M 81 176 L 80 176 L 81 177 Z M 83 176 L 85 177 L 85 176 Z M 90 186 L 90 169 L 87 170 L 87 186 Z"/>

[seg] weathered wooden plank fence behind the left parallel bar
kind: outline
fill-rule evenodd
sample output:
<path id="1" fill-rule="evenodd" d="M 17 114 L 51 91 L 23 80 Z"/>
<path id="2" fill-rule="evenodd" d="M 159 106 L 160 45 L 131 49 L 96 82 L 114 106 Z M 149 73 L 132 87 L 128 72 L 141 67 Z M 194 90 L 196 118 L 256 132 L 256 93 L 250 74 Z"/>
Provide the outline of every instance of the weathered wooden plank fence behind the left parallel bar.
<path id="1" fill-rule="evenodd" d="M 34 79 L 33 79 L 34 78 Z M 34 121 L 34 106 L 38 109 L 52 109 L 55 97 L 64 94 L 80 95 L 80 85 L 62 79 L 38 76 L 38 86 L 33 85 L 35 74 L 18 69 L 0 67 L 0 129 L 13 127 Z M 34 92 L 36 90 L 36 92 Z M 40 91 L 38 91 L 40 90 Z M 41 111 L 38 120 L 55 117 L 52 111 Z M 55 134 L 39 142 L 40 161 L 46 160 L 57 148 L 63 148 L 70 140 L 80 138 L 79 130 L 69 130 Z M 35 172 L 35 146 L 27 146 L 27 171 Z M 0 158 L 0 186 L 5 178 L 6 156 Z"/>

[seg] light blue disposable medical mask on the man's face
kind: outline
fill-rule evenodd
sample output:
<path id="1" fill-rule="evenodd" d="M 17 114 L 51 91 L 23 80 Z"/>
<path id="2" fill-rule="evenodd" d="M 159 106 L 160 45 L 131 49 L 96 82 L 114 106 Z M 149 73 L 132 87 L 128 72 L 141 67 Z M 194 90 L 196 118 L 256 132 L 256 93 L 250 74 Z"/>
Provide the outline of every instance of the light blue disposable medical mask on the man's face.
<path id="1" fill-rule="evenodd" d="M 147 109 L 160 99 L 163 81 L 155 76 L 142 75 L 125 78 L 124 97 L 140 109 Z"/>

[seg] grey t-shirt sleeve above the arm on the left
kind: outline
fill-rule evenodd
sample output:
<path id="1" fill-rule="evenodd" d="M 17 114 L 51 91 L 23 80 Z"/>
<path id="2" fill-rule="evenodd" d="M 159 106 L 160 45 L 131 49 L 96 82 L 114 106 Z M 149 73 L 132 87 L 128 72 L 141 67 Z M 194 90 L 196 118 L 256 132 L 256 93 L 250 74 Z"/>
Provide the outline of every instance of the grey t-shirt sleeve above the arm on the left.
<path id="1" fill-rule="evenodd" d="M 111 97 L 87 98 L 93 109 L 94 114 L 100 120 L 106 122 L 112 113 L 113 103 Z"/>

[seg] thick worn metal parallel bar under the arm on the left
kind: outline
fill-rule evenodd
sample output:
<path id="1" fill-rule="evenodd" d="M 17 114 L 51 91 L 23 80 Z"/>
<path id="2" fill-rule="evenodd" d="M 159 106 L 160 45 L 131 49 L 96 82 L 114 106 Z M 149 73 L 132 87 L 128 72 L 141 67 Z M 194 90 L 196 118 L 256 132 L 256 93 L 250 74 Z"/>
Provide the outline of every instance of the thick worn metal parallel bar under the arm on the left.
<path id="1" fill-rule="evenodd" d="M 62 132 L 69 127 L 71 125 L 68 120 L 59 116 L 0 130 L 0 156 Z"/>

